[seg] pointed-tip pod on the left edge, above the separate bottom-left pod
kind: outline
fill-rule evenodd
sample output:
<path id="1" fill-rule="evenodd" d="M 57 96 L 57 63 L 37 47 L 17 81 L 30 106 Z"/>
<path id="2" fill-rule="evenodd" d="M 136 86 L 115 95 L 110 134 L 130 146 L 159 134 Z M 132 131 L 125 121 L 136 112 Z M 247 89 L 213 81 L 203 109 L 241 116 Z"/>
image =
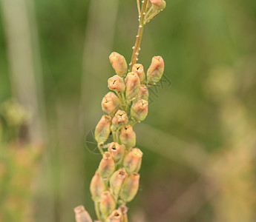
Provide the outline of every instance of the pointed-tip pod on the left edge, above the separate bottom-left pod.
<path id="1" fill-rule="evenodd" d="M 99 176 L 98 171 L 96 171 L 90 184 L 90 191 L 93 201 L 99 201 L 100 195 L 105 191 L 105 189 L 105 184 L 103 183 L 102 178 Z"/>

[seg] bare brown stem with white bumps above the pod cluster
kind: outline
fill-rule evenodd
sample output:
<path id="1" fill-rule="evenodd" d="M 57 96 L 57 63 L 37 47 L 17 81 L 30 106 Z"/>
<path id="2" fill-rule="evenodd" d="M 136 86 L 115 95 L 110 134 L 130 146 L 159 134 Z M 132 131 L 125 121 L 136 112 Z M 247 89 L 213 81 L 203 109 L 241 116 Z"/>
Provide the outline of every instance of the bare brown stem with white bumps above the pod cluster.
<path id="1" fill-rule="evenodd" d="M 138 33 L 137 33 L 137 36 L 136 36 L 137 39 L 136 39 L 135 45 L 133 47 L 134 51 L 133 51 L 133 54 L 131 56 L 131 63 L 130 63 L 129 70 L 131 70 L 131 68 L 134 66 L 134 64 L 137 61 L 137 57 L 139 55 L 140 43 L 141 43 L 141 40 L 142 40 L 142 33 L 143 33 L 143 28 L 144 28 L 145 9 L 146 9 L 147 2 L 148 2 L 148 0 L 143 0 L 142 1 L 139 29 L 138 29 Z"/>

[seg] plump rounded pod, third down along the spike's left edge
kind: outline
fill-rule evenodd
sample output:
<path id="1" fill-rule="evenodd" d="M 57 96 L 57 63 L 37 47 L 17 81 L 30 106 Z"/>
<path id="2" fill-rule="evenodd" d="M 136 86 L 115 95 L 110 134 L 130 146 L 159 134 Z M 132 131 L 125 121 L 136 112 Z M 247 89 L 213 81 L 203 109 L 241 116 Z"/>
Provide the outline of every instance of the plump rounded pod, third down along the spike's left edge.
<path id="1" fill-rule="evenodd" d="M 102 110 L 113 116 L 119 110 L 120 101 L 114 92 L 108 92 L 102 99 Z"/>

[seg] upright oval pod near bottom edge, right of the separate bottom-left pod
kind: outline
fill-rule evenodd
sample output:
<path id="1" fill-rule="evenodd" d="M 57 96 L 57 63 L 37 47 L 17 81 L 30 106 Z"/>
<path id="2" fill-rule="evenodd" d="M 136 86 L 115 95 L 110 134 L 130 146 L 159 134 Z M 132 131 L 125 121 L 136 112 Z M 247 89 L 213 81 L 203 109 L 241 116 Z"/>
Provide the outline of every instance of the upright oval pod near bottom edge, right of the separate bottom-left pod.
<path id="1" fill-rule="evenodd" d="M 116 208 L 116 202 L 114 201 L 114 198 L 111 195 L 111 192 L 109 191 L 102 192 L 100 202 L 99 202 L 99 209 L 100 209 L 100 212 L 102 213 L 103 218 L 107 218 L 108 215 L 110 215 L 115 208 Z"/>

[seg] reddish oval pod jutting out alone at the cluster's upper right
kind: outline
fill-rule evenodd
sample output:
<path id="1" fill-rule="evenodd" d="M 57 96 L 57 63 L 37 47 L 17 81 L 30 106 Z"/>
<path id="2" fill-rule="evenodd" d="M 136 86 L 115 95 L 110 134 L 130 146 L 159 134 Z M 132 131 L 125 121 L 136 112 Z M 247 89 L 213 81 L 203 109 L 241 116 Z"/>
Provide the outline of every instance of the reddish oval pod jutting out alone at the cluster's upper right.
<path id="1" fill-rule="evenodd" d="M 165 69 L 165 64 L 161 56 L 154 56 L 151 61 L 151 65 L 147 71 L 148 84 L 156 84 L 163 75 L 163 70 Z"/>

